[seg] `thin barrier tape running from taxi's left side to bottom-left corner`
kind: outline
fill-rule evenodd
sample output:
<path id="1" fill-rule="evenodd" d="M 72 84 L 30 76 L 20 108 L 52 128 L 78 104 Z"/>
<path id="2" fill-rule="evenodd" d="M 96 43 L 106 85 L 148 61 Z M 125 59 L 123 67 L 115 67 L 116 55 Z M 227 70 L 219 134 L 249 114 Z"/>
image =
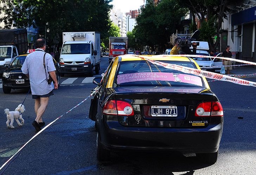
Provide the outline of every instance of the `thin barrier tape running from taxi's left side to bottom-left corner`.
<path id="1" fill-rule="evenodd" d="M 55 121 L 57 121 L 58 119 L 60 119 L 62 116 L 64 116 L 65 114 L 67 114 L 67 113 L 69 113 L 70 111 L 72 111 L 73 109 L 75 109 L 77 106 L 79 106 L 79 105 L 81 105 L 82 103 L 84 103 L 85 100 L 87 100 L 87 99 L 90 98 L 94 93 L 96 93 L 99 88 L 100 88 L 100 87 L 97 86 L 97 87 L 95 88 L 95 91 L 92 92 L 92 93 L 91 93 L 87 98 L 85 98 L 82 102 L 80 102 L 79 104 L 77 104 L 75 107 L 73 107 L 73 108 L 72 108 L 71 110 L 69 110 L 68 112 L 66 112 L 66 113 L 62 114 L 61 116 L 59 116 L 57 119 L 53 120 L 51 123 L 49 123 L 48 125 L 46 125 L 42 130 L 40 130 L 38 133 L 36 133 L 36 135 L 34 135 L 30 140 L 28 140 L 28 141 L 26 142 L 26 144 L 24 144 L 9 160 L 7 160 L 7 162 L 4 163 L 4 165 L 2 165 L 2 166 L 0 167 L 0 170 L 1 170 L 2 168 L 4 168 L 4 166 L 5 166 L 16 154 L 18 154 L 31 140 L 33 140 L 35 137 L 37 137 L 37 135 L 39 135 L 41 132 L 43 132 L 44 130 L 46 130 L 46 128 L 48 128 L 51 124 L 53 124 Z"/>

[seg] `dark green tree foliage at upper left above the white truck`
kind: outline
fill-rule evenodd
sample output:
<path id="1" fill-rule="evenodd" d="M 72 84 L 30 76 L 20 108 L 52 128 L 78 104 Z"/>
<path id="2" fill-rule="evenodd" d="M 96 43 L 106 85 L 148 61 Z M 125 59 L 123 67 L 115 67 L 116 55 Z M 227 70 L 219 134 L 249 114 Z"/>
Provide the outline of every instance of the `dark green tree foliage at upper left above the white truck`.
<path id="1" fill-rule="evenodd" d="M 99 31 L 101 38 L 108 35 L 111 23 L 109 11 L 112 0 L 2 0 L 0 18 L 6 29 L 13 27 L 39 27 L 48 36 L 66 31 Z"/>

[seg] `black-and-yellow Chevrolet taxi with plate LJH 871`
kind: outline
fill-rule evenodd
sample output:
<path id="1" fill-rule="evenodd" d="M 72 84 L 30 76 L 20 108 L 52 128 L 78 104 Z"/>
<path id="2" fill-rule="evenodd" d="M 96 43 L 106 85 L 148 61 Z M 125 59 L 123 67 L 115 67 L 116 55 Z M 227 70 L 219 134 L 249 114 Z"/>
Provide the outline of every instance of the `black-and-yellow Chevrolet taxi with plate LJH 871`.
<path id="1" fill-rule="evenodd" d="M 147 58 L 199 69 L 188 57 Z M 89 112 L 98 160 L 129 149 L 196 153 L 204 163 L 216 162 L 223 109 L 206 78 L 126 55 L 93 82 L 100 88 Z"/>

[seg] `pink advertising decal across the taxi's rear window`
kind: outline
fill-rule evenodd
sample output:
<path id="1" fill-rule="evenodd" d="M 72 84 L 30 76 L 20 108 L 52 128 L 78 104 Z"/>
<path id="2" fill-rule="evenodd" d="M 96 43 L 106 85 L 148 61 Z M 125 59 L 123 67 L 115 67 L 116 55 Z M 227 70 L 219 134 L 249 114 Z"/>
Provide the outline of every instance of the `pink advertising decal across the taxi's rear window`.
<path id="1" fill-rule="evenodd" d="M 136 72 L 120 74 L 117 76 L 117 84 L 138 81 L 172 81 L 202 86 L 202 81 L 200 77 L 179 73 Z"/>

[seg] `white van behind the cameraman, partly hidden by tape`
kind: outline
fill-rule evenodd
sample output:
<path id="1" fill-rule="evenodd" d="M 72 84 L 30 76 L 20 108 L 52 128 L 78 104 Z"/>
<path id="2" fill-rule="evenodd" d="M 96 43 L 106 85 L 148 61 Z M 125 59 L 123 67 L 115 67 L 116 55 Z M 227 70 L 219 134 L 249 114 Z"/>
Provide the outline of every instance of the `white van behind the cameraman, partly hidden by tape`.
<path id="1" fill-rule="evenodd" d="M 205 41 L 193 41 L 199 42 L 199 46 L 197 46 L 197 55 L 210 56 L 209 53 L 209 44 Z M 190 47 L 192 50 L 192 46 Z M 200 66 L 201 70 L 211 71 L 211 72 L 220 72 L 222 66 L 222 60 L 218 58 L 193 58 L 197 64 Z M 213 68 L 214 66 L 218 66 L 217 68 Z"/>

